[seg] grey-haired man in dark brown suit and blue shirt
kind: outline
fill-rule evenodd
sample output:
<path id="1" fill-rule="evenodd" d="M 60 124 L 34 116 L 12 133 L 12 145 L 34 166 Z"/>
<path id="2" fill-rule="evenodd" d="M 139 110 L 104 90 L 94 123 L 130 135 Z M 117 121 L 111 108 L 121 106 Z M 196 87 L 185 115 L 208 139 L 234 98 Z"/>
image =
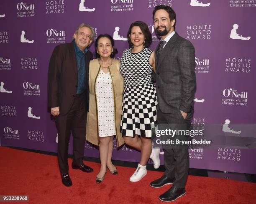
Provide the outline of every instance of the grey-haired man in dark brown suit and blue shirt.
<path id="1" fill-rule="evenodd" d="M 48 72 L 48 106 L 56 117 L 58 129 L 58 160 L 62 183 L 69 187 L 68 145 L 73 135 L 73 169 L 92 172 L 83 163 L 86 117 L 89 107 L 88 73 L 94 30 L 90 25 L 77 27 L 71 43 L 54 48 Z"/>

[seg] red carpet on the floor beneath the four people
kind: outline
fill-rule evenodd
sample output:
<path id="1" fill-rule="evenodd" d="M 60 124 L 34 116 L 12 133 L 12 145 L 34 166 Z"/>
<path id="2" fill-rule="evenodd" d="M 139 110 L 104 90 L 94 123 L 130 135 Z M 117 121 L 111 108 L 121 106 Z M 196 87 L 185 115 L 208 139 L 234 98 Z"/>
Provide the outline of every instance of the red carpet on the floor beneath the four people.
<path id="1" fill-rule="evenodd" d="M 154 171 L 140 182 L 129 182 L 135 169 L 119 166 L 117 176 L 108 172 L 103 183 L 96 184 L 100 164 L 94 162 L 85 162 L 93 173 L 70 169 L 73 186 L 64 187 L 55 156 L 0 147 L 0 161 L 0 195 L 29 195 L 29 202 L 36 204 L 163 203 L 158 196 L 171 187 L 151 188 L 149 183 L 162 175 Z M 69 159 L 69 167 L 71 163 Z M 186 190 L 175 203 L 256 203 L 255 183 L 189 176 Z"/>

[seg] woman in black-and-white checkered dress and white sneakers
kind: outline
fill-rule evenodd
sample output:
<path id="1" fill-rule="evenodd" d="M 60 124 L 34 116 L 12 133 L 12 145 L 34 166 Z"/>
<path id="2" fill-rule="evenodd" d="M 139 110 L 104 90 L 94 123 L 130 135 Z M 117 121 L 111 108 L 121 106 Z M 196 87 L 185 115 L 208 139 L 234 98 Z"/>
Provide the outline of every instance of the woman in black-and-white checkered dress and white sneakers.
<path id="1" fill-rule="evenodd" d="M 152 150 L 151 144 L 151 126 L 156 124 L 157 114 L 156 87 L 151 82 L 155 60 L 154 51 L 148 48 L 152 35 L 146 23 L 133 22 L 127 38 L 131 48 L 124 50 L 120 64 L 125 83 L 120 132 L 126 144 L 141 151 L 141 161 L 130 178 L 137 182 L 147 174 L 149 157 L 155 168 L 160 165 L 160 149 Z"/>

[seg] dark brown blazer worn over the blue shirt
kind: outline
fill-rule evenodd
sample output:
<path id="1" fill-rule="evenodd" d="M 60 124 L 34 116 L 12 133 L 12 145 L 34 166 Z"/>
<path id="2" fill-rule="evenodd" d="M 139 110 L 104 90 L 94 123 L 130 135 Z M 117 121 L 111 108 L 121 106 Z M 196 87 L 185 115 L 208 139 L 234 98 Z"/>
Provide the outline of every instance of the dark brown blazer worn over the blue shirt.
<path id="1" fill-rule="evenodd" d="M 84 82 L 86 84 L 87 104 L 89 107 L 88 74 L 92 52 L 85 54 Z M 60 114 L 67 114 L 77 92 L 77 60 L 74 43 L 57 45 L 51 55 L 48 71 L 48 106 L 60 107 Z"/>

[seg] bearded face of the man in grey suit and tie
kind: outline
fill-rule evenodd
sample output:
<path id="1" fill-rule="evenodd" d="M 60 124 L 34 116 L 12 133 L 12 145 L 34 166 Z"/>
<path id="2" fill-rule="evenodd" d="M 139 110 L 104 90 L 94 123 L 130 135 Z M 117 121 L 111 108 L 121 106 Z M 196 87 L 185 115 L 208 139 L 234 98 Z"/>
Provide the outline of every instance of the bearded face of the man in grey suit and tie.
<path id="1" fill-rule="evenodd" d="M 154 15 L 154 25 L 156 34 L 160 36 L 167 36 L 174 31 L 175 20 L 170 20 L 168 12 L 164 9 L 159 9 Z"/>

